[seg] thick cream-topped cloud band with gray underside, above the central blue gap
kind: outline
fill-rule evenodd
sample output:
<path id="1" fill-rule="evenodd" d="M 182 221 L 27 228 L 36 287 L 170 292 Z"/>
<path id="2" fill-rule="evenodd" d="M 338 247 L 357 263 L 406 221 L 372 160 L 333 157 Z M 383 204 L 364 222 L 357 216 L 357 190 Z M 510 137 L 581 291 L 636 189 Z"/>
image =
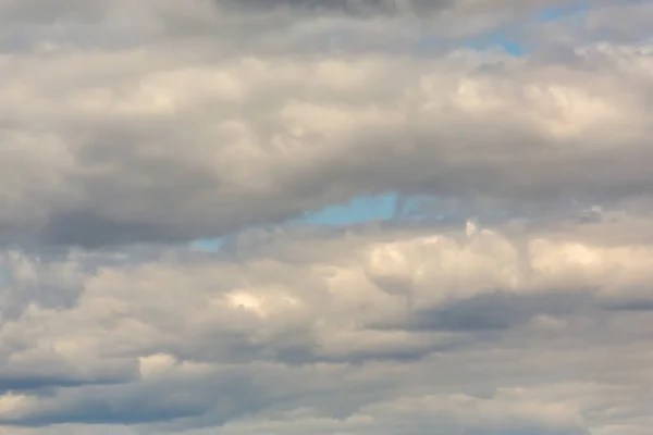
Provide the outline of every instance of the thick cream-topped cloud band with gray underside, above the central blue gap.
<path id="1" fill-rule="evenodd" d="M 23 241 L 95 246 L 219 236 L 387 190 L 514 212 L 646 197 L 649 98 L 618 75 L 620 55 L 578 54 L 582 71 L 500 61 L 502 75 L 473 66 L 475 54 L 402 64 L 236 60 L 144 71 L 124 95 L 70 89 L 41 151 L 46 166 L 24 148 L 5 151 L 5 165 L 29 170 L 5 173 L 15 172 L 17 190 L 0 217 Z M 645 57 L 625 55 L 632 65 Z M 604 78 L 594 83 L 589 66 L 599 61 Z M 312 82 L 296 86 L 306 75 Z M 54 115 L 53 102 L 41 116 Z M 115 133 L 98 139 L 109 121 L 97 116 Z M 8 140 L 41 140 L 26 128 Z M 37 178 L 25 175 L 34 171 Z"/>

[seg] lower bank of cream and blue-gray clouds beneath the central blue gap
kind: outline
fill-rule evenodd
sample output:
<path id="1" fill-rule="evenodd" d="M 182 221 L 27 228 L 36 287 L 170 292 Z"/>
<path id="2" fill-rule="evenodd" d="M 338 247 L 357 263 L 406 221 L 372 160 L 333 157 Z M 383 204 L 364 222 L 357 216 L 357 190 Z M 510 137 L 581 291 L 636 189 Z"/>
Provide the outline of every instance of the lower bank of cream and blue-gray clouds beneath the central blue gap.
<path id="1" fill-rule="evenodd" d="M 244 235 L 226 257 L 94 256 L 73 268 L 86 271 L 74 304 L 33 294 L 4 322 L 0 385 L 20 406 L 1 421 L 225 434 L 625 424 L 648 415 L 651 311 L 611 303 L 650 293 L 653 246 L 608 243 L 612 225 L 297 229 Z"/>

